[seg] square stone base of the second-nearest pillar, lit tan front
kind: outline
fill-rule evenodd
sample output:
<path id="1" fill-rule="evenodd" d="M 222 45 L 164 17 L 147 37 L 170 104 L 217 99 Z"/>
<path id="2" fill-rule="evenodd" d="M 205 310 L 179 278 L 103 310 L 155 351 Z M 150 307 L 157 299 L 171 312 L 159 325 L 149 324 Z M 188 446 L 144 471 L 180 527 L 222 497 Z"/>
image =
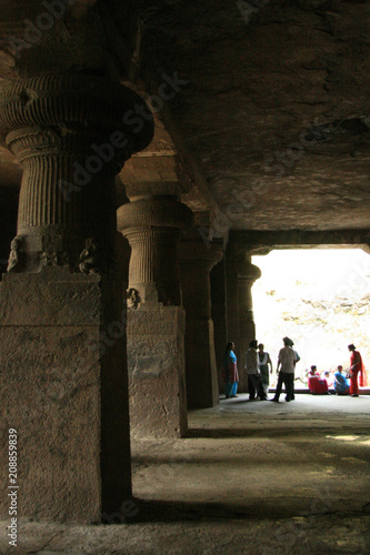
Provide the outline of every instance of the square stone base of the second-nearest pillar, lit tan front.
<path id="1" fill-rule="evenodd" d="M 130 422 L 133 437 L 182 437 L 188 430 L 184 311 L 144 305 L 128 311 Z"/>

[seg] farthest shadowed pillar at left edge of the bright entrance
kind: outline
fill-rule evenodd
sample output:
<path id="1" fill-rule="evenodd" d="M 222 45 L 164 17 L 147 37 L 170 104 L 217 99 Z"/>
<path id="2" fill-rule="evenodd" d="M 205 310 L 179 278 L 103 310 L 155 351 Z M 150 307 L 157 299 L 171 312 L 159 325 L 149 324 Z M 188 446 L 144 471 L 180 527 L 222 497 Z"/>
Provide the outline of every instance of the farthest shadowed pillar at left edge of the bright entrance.
<path id="1" fill-rule="evenodd" d="M 244 356 L 249 343 L 256 339 L 252 285 L 261 276 L 259 268 L 251 263 L 250 252 L 239 243 L 238 232 L 230 234 L 226 253 L 228 341 L 236 343 L 239 387 L 248 391 Z"/>

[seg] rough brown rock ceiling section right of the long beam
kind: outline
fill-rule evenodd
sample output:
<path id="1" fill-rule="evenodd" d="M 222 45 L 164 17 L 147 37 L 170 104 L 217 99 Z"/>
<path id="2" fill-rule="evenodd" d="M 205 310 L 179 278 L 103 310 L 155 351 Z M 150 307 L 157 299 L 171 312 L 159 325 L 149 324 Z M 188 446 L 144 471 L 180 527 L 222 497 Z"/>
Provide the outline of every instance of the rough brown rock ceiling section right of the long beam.
<path id="1" fill-rule="evenodd" d="M 172 118 L 234 229 L 369 226 L 369 2 L 139 4 L 142 69 L 189 81 Z"/>

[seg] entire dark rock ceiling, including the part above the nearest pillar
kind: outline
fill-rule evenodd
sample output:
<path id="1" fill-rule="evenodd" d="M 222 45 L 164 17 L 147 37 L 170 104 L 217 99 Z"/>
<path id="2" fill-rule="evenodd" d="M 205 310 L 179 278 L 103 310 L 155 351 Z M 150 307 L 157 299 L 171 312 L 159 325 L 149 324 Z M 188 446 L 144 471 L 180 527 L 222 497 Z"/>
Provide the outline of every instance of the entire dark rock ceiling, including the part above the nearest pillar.
<path id="1" fill-rule="evenodd" d="M 369 228 L 369 2 L 70 3 L 66 17 L 14 59 L 9 37 L 22 37 L 24 19 L 33 21 L 44 6 L 2 2 L 1 78 L 106 72 L 154 94 L 163 73 L 177 74 L 179 91 L 159 117 L 193 183 L 183 196 L 189 205 L 201 212 L 206 200 L 233 229 Z M 162 137 L 128 175 L 137 171 L 138 179 L 140 163 L 172 175 L 173 158 L 166 171 L 168 149 L 158 149 Z M 19 167 L 3 149 L 0 169 L 2 184 L 19 182 Z M 123 172 L 118 183 L 124 179 Z"/>

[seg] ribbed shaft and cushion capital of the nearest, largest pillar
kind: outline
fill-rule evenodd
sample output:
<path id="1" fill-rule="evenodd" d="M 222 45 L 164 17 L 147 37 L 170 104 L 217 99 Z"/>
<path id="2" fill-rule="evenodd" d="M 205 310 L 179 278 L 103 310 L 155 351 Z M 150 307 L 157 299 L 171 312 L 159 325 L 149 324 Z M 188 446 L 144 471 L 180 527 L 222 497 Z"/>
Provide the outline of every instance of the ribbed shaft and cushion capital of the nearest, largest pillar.
<path id="1" fill-rule="evenodd" d="M 144 102 L 130 89 L 77 73 L 1 89 L 0 132 L 23 168 L 8 271 L 69 265 L 90 273 L 110 265 L 113 176 L 152 138 L 152 122 L 138 133 L 126 123 L 134 104 Z"/>

